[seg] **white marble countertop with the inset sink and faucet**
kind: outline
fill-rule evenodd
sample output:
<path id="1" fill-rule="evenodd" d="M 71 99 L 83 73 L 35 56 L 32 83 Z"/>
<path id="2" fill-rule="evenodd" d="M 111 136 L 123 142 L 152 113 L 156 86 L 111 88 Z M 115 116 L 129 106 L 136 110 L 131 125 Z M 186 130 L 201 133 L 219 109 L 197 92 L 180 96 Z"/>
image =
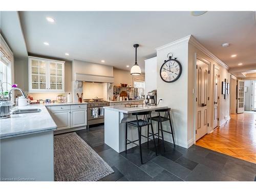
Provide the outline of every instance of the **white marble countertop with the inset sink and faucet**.
<path id="1" fill-rule="evenodd" d="M 12 111 L 16 109 L 40 109 L 41 112 L 15 114 L 10 118 L 0 119 L 0 139 L 54 131 L 57 128 L 44 104 L 15 106 Z"/>

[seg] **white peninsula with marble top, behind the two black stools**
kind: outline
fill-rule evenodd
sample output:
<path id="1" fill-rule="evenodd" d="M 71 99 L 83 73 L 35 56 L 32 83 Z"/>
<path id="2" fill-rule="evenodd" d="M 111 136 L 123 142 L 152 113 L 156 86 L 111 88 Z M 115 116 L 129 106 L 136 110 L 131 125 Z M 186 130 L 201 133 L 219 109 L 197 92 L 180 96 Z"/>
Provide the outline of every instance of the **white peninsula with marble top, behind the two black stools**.
<path id="1" fill-rule="evenodd" d="M 163 105 L 145 105 L 136 107 L 125 107 L 123 105 L 118 106 L 104 106 L 105 119 L 104 119 L 104 142 L 113 148 L 118 153 L 125 150 L 125 122 L 136 120 L 136 116 L 132 113 L 154 111 L 158 109 L 166 109 L 167 106 Z M 152 116 L 157 115 L 152 112 Z M 156 126 L 153 124 L 154 130 Z M 138 131 L 136 127 L 129 126 L 127 138 L 130 140 L 138 139 Z M 146 126 L 142 128 L 142 135 L 146 135 Z M 146 142 L 146 138 L 141 139 L 141 143 Z M 136 146 L 135 144 L 127 145 L 128 148 Z"/>

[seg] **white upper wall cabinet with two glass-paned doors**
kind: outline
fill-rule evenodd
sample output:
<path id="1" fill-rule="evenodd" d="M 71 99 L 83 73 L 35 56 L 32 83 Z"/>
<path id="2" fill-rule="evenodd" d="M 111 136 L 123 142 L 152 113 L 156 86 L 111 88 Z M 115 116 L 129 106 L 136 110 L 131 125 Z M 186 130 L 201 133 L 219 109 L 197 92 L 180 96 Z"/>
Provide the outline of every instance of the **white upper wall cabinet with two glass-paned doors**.
<path id="1" fill-rule="evenodd" d="M 29 92 L 65 92 L 65 61 L 29 57 Z"/>

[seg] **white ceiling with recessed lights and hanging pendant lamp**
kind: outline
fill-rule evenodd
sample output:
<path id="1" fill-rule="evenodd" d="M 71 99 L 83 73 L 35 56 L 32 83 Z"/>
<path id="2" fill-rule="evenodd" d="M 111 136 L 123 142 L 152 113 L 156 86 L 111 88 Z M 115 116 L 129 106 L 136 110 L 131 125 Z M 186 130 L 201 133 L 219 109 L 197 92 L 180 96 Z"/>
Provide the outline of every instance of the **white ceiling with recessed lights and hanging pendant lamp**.
<path id="1" fill-rule="evenodd" d="M 78 59 L 127 69 L 138 48 L 144 59 L 156 56 L 155 48 L 192 34 L 230 68 L 256 63 L 254 12 L 19 12 L 28 52 L 68 60 Z M 50 16 L 55 24 L 46 20 Z M 45 46 L 43 42 L 49 42 Z M 229 42 L 227 48 L 221 47 Z M 69 53 L 66 56 L 65 53 Z M 237 57 L 231 58 L 232 54 Z M 240 67 L 242 69 L 242 67 Z"/>

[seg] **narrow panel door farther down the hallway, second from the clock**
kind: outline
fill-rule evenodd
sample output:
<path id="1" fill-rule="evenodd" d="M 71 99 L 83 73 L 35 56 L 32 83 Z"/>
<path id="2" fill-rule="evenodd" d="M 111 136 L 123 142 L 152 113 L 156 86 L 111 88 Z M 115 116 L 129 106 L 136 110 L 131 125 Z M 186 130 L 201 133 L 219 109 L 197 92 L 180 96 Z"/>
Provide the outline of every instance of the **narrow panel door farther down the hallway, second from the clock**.
<path id="1" fill-rule="evenodd" d="M 219 75 L 219 69 L 214 69 L 214 124 L 213 128 L 216 128 L 218 126 L 219 121 L 219 87 L 220 87 L 220 75 Z"/>

